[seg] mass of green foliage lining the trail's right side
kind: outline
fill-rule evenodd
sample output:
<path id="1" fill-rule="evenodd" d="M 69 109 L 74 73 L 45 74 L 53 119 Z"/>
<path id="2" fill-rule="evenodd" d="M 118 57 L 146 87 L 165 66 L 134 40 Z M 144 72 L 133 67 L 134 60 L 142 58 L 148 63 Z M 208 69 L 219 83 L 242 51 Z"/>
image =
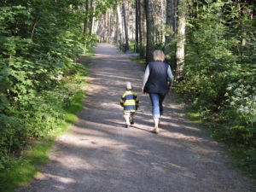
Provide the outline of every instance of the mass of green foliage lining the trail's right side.
<path id="1" fill-rule="evenodd" d="M 197 3 L 190 5 L 194 10 L 187 18 L 185 67 L 176 90 L 203 119 L 222 124 L 212 126 L 212 136 L 247 148 L 241 161 L 255 167 L 256 26 L 248 14 L 254 8 L 243 3 L 239 9 L 234 1 Z"/>

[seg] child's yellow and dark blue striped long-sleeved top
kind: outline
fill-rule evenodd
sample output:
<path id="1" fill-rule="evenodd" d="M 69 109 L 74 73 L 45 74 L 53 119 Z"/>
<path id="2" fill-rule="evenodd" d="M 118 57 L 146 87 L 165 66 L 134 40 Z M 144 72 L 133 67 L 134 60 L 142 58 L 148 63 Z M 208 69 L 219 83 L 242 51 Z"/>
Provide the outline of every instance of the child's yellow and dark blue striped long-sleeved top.
<path id="1" fill-rule="evenodd" d="M 125 112 L 134 112 L 139 107 L 139 100 L 136 95 L 131 90 L 125 91 L 125 94 L 120 98 L 120 105 L 124 107 Z"/>

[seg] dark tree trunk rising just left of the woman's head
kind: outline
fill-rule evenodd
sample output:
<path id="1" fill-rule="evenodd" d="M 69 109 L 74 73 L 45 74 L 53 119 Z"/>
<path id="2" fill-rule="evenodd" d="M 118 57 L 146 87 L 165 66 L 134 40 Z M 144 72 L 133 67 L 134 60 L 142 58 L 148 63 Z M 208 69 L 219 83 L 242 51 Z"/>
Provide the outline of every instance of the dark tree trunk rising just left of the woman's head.
<path id="1" fill-rule="evenodd" d="M 147 20 L 147 48 L 146 48 L 146 63 L 154 61 L 154 19 L 152 0 L 144 0 L 145 12 Z"/>

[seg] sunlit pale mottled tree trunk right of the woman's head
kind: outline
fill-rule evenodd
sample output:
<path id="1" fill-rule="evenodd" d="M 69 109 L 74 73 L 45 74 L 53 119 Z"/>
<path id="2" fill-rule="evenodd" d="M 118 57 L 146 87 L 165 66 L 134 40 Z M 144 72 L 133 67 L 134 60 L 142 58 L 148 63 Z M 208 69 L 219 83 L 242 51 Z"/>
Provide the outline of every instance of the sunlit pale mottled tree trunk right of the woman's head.
<path id="1" fill-rule="evenodd" d="M 181 79 L 183 77 L 184 67 L 184 44 L 185 44 L 185 0 L 178 0 L 177 10 L 177 49 L 176 49 L 176 77 Z"/>

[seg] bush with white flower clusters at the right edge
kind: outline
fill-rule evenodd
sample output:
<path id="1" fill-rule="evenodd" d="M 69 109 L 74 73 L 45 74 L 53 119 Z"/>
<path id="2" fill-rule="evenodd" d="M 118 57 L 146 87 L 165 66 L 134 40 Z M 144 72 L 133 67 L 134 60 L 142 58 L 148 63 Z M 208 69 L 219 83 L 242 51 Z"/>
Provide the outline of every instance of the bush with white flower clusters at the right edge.
<path id="1" fill-rule="evenodd" d="M 230 137 L 236 143 L 256 146 L 256 88 L 239 80 L 229 84 L 222 113 L 230 120 Z"/>

